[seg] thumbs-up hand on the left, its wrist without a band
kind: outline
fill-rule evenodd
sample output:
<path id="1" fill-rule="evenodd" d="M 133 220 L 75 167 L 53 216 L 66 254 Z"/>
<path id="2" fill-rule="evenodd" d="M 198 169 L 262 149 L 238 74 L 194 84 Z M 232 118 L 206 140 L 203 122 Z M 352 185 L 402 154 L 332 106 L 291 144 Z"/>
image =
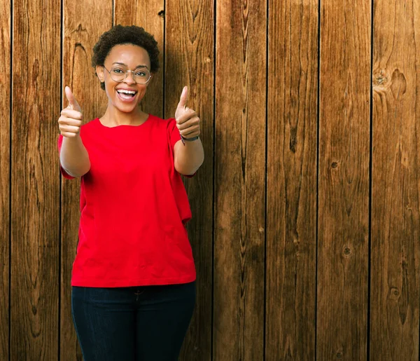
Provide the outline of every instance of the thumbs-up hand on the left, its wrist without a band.
<path id="1" fill-rule="evenodd" d="M 73 138 L 80 132 L 82 125 L 82 109 L 68 86 L 64 88 L 69 105 L 61 111 L 58 118 L 59 131 L 63 137 Z"/>

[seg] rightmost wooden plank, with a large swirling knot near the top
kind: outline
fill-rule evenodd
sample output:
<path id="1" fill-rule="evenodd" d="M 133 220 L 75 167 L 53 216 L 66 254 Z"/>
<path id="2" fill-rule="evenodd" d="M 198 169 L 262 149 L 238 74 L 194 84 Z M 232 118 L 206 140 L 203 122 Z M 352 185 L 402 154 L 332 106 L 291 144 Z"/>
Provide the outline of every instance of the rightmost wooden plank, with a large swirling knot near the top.
<path id="1" fill-rule="evenodd" d="M 420 2 L 374 2 L 370 360 L 419 360 Z"/>

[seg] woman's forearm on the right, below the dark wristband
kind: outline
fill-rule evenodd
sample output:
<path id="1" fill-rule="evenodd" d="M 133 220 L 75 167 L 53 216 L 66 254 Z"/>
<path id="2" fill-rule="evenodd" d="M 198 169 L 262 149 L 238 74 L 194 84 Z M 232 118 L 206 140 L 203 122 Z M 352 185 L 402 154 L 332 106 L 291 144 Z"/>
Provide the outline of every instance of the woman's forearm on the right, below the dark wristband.
<path id="1" fill-rule="evenodd" d="M 183 175 L 192 175 L 204 162 L 204 149 L 201 139 L 194 142 L 179 143 L 179 150 L 176 151 L 175 169 Z"/>

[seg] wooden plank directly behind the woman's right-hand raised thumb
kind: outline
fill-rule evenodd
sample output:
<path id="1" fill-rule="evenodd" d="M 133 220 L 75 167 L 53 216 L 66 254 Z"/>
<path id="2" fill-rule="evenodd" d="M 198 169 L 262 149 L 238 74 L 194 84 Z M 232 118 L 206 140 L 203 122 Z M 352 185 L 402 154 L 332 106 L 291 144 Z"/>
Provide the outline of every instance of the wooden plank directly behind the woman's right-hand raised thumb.
<path id="1" fill-rule="evenodd" d="M 211 360 L 211 299 L 213 259 L 213 132 L 214 132 L 214 2 L 166 2 L 165 117 L 174 117 L 183 86 L 188 107 L 200 116 L 205 161 L 186 180 L 193 219 L 188 235 L 197 269 L 197 297 L 180 360 Z"/>

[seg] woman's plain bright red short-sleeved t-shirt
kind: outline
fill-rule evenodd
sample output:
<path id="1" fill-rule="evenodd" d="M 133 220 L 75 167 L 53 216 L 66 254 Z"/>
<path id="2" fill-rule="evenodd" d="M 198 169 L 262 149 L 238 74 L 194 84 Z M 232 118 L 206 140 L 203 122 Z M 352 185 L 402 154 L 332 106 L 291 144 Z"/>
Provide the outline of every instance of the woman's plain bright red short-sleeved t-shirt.
<path id="1" fill-rule="evenodd" d="M 174 118 L 141 125 L 80 127 L 90 158 L 81 179 L 72 286 L 129 287 L 193 282 L 186 222 L 190 204 L 174 168 L 181 140 Z M 63 137 L 59 135 L 58 149 Z M 60 166 L 62 175 L 72 179 Z"/>

